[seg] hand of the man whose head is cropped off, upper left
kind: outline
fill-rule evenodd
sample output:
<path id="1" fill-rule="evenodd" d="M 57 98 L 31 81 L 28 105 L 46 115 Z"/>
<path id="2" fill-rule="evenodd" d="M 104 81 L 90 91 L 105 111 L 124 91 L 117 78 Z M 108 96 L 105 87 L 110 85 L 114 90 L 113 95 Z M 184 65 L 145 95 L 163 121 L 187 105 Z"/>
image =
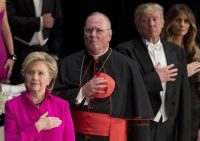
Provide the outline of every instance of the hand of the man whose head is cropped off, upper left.
<path id="1" fill-rule="evenodd" d="M 54 18 L 51 16 L 51 13 L 46 13 L 42 15 L 43 18 L 43 27 L 52 28 L 54 24 Z"/>

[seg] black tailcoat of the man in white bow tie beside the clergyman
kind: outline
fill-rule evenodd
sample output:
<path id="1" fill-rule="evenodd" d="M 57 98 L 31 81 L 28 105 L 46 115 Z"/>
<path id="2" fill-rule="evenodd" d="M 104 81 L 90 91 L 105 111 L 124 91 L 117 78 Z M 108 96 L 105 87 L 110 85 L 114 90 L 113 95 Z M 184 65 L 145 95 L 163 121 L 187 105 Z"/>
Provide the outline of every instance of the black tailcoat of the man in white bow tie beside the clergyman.
<path id="1" fill-rule="evenodd" d="M 177 141 L 190 141 L 191 102 L 185 52 L 175 44 L 165 41 L 162 41 L 162 44 L 167 64 L 174 64 L 178 68 L 176 81 L 167 82 L 166 84 L 166 112 L 169 119 L 176 123 Z M 155 110 L 155 106 L 160 105 L 158 96 L 162 90 L 162 85 L 148 54 L 147 47 L 141 39 L 136 39 L 121 43 L 115 49 L 140 64 L 140 70 L 149 92 L 152 107 Z"/>

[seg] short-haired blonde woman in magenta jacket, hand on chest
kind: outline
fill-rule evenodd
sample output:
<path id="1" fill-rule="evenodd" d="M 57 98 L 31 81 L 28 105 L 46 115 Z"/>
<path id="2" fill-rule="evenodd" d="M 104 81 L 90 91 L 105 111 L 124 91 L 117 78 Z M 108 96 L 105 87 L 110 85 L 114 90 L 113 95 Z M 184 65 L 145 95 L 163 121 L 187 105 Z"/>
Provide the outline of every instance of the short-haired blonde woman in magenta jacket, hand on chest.
<path id="1" fill-rule="evenodd" d="M 5 104 L 5 141 L 75 141 L 69 104 L 51 94 L 56 61 L 44 52 L 29 54 L 22 65 L 26 91 Z"/>

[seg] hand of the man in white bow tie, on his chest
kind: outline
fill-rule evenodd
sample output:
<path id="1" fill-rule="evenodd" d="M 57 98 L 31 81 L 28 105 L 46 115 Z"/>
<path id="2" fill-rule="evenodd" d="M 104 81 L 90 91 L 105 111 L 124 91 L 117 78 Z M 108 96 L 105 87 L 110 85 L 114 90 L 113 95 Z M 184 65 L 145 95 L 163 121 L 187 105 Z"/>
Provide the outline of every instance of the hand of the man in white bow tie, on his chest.
<path id="1" fill-rule="evenodd" d="M 155 70 L 158 73 L 161 82 L 175 81 L 175 76 L 178 75 L 178 69 L 174 68 L 174 64 L 168 65 L 166 67 L 161 67 L 160 64 L 158 64 Z"/>

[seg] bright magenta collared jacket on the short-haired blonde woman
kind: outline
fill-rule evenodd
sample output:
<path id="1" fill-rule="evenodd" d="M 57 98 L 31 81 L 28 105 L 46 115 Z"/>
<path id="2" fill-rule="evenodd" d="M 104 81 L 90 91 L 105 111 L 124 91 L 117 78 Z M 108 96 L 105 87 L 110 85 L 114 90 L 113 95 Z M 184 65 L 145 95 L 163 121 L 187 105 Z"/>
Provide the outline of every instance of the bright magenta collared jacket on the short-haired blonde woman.
<path id="1" fill-rule="evenodd" d="M 59 127 L 37 131 L 35 122 L 48 111 L 48 116 L 59 117 Z M 74 126 L 68 102 L 46 92 L 37 108 L 28 91 L 5 104 L 5 141 L 75 141 Z"/>

